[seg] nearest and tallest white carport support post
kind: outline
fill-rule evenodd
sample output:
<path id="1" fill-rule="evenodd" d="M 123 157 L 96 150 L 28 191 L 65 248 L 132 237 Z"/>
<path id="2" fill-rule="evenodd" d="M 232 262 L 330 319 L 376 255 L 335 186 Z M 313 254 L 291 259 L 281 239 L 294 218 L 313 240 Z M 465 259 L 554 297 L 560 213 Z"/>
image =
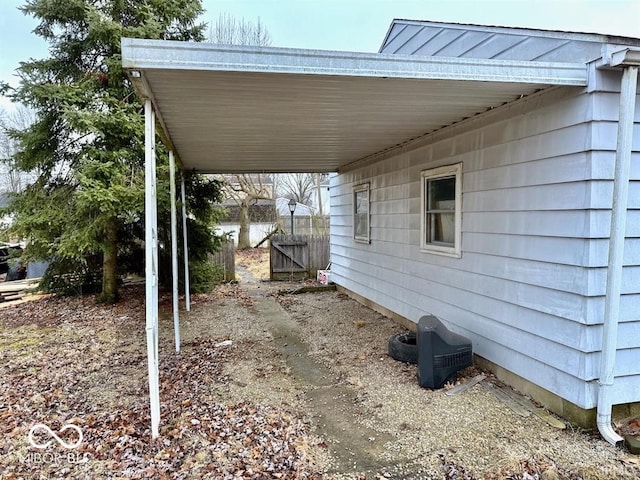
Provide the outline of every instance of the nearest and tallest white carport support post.
<path id="1" fill-rule="evenodd" d="M 145 193 L 145 315 L 151 437 L 160 427 L 160 385 L 158 369 L 158 204 L 156 196 L 155 114 L 151 100 L 144 104 L 144 193 Z"/>

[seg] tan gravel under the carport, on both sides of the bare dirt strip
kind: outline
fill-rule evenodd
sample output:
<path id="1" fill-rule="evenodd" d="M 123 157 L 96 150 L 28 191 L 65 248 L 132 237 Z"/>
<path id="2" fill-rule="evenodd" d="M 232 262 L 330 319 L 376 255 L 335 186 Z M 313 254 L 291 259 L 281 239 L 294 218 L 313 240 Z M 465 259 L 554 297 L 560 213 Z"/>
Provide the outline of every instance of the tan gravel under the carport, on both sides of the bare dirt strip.
<path id="1" fill-rule="evenodd" d="M 335 291 L 278 294 L 294 287 L 259 283 L 252 288 L 254 295 L 273 296 L 284 307 L 304 332 L 309 355 L 354 392 L 358 414 L 353 421 L 389 439 L 377 458 L 379 471 L 335 472 L 335 478 L 640 478 L 636 456 L 611 447 L 597 433 L 570 426 L 559 430 L 535 415 L 522 417 L 482 384 L 453 397 L 420 388 L 415 366 L 387 355 L 387 340 L 402 331 L 399 325 Z M 243 300 L 196 309 L 199 318 L 213 315 L 210 324 L 217 335 L 238 341 L 237 358 L 226 372 L 231 398 L 287 405 L 317 433 L 305 395 L 310 387 L 296 382 L 274 351 L 269 325 L 247 303 L 239 312 L 238 302 Z M 466 369 L 460 380 L 478 373 Z M 500 385 L 484 373 L 483 383 Z M 337 449 L 331 439 L 310 444 L 320 471 L 335 471 Z"/>

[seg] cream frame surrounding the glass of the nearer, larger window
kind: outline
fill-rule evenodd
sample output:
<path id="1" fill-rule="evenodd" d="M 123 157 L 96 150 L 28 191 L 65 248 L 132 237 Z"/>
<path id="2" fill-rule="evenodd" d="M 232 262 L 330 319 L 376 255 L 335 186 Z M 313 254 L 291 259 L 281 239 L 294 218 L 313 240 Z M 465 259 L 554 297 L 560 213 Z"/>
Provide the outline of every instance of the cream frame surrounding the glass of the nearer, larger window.
<path id="1" fill-rule="evenodd" d="M 454 243 L 452 247 L 427 242 L 427 181 L 455 177 Z M 420 172 L 420 250 L 425 253 L 462 257 L 462 163 Z"/>

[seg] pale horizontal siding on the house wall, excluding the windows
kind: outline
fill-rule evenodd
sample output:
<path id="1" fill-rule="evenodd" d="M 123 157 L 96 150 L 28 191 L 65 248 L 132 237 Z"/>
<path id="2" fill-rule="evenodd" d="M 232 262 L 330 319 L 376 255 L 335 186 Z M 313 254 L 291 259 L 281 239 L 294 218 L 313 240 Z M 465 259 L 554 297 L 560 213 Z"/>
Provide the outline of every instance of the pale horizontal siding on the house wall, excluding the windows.
<path id="1" fill-rule="evenodd" d="M 552 89 L 340 172 L 331 188 L 332 279 L 415 322 L 434 314 L 471 338 L 480 356 L 580 407 L 595 407 L 618 115 L 614 83 Z M 640 401 L 636 129 L 616 403 Z M 462 257 L 422 252 L 420 172 L 459 162 Z M 363 182 L 370 184 L 370 244 L 352 238 L 353 187 Z"/>

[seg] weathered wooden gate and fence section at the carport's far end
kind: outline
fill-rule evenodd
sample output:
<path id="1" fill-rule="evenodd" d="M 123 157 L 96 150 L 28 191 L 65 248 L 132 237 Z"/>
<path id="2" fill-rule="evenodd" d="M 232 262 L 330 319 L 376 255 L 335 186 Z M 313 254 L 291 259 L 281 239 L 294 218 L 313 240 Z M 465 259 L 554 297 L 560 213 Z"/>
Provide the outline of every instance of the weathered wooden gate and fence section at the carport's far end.
<path id="1" fill-rule="evenodd" d="M 329 264 L 329 237 L 274 235 L 270 253 L 271 280 L 316 278 Z"/>

